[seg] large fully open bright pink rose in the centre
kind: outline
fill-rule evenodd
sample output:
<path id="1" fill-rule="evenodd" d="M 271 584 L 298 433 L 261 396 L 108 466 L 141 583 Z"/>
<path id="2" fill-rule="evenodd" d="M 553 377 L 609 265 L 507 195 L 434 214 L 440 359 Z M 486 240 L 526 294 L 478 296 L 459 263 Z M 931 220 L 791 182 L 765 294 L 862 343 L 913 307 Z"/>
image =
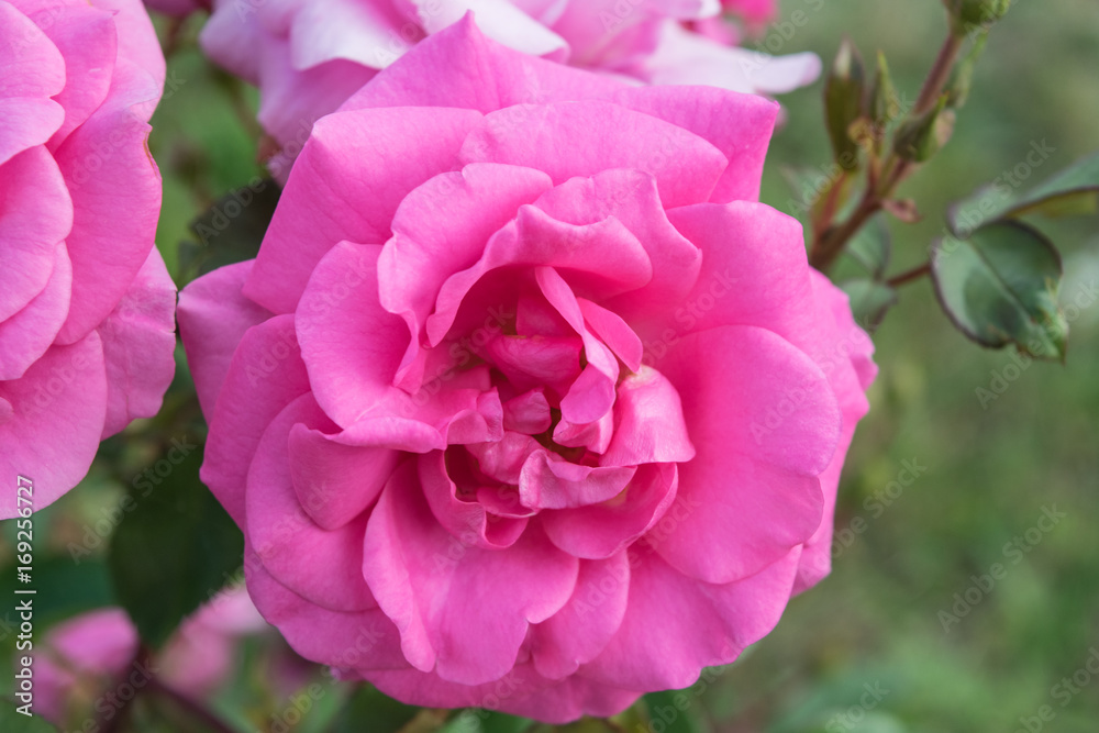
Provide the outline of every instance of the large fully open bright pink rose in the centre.
<path id="1" fill-rule="evenodd" d="M 291 646 L 563 722 L 690 685 L 829 571 L 875 367 L 757 202 L 777 111 L 467 21 L 317 123 L 258 257 L 179 309 L 203 480 Z"/>

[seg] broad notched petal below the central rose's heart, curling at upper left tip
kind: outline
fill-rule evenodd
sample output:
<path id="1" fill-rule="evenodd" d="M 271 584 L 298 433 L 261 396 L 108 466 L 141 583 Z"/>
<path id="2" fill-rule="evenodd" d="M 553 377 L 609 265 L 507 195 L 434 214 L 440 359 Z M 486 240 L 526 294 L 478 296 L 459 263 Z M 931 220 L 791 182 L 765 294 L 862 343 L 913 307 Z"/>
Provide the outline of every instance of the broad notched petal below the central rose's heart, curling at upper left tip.
<path id="1" fill-rule="evenodd" d="M 465 546 L 432 515 L 415 463 L 393 474 L 370 515 L 363 569 L 410 663 L 463 685 L 511 669 L 529 624 L 560 610 L 576 585 L 576 558 L 532 529 L 507 551 Z"/>

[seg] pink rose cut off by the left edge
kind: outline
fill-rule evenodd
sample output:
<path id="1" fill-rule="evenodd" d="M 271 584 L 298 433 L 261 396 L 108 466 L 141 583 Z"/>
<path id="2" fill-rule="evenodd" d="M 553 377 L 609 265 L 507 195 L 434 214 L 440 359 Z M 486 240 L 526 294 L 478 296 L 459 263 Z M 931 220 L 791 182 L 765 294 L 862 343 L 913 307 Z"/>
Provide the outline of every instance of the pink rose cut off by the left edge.
<path id="1" fill-rule="evenodd" d="M 0 475 L 30 478 L 34 509 L 171 381 L 145 146 L 163 85 L 137 0 L 0 0 Z M 16 509 L 4 491 L 0 518 Z"/>

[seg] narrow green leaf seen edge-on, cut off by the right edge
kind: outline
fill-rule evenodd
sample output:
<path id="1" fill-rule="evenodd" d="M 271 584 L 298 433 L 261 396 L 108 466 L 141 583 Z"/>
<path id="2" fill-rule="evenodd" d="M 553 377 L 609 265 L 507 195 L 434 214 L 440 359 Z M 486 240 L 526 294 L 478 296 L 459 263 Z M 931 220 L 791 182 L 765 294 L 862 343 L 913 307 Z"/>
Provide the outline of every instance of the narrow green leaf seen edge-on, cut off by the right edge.
<path id="1" fill-rule="evenodd" d="M 1040 144 L 1034 145 L 1033 152 L 1048 154 Z M 1006 186 L 985 186 L 957 202 L 948 214 L 955 236 L 993 221 L 1030 214 L 1070 216 L 1096 213 L 1099 211 L 1099 153 L 1077 160 L 1026 193 L 1012 196 Z"/>

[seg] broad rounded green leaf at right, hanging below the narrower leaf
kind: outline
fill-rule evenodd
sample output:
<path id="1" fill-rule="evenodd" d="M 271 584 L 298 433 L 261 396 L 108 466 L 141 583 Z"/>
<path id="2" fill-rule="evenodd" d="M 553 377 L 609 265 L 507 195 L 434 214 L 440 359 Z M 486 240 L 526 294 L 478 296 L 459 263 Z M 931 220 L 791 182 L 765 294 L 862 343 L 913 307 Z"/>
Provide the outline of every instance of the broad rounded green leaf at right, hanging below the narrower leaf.
<path id="1" fill-rule="evenodd" d="M 1037 358 L 1063 360 L 1068 323 L 1057 307 L 1061 256 L 1018 222 L 991 224 L 969 240 L 935 242 L 935 292 L 954 324 L 978 344 L 1015 344 Z"/>

